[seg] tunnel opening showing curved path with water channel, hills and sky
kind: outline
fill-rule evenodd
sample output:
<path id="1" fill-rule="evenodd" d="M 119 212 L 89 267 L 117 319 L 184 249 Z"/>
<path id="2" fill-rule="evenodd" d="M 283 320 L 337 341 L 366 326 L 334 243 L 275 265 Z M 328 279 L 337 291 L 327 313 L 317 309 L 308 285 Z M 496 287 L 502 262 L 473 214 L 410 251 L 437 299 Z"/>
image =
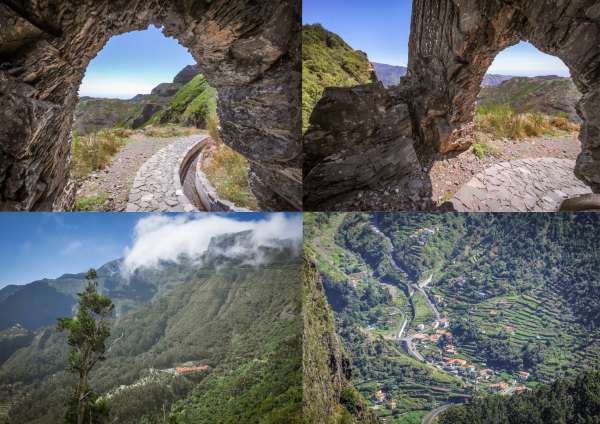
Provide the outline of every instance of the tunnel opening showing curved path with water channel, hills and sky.
<path id="1" fill-rule="evenodd" d="M 196 184 L 202 173 L 216 199 L 255 210 L 248 161 L 223 142 L 217 99 L 190 53 L 161 28 L 113 36 L 79 88 L 75 209 L 210 211 L 198 193 L 205 185 Z"/>

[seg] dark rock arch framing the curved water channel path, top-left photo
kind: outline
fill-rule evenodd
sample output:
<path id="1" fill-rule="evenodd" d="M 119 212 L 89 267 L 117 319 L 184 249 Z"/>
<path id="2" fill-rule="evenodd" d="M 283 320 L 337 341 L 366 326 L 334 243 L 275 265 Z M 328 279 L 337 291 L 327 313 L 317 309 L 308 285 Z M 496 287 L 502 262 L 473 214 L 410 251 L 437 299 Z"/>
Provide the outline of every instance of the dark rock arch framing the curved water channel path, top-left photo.
<path id="1" fill-rule="evenodd" d="M 251 163 L 261 208 L 301 207 L 299 5 L 291 0 L 0 4 L 0 209 L 65 210 L 72 112 L 114 35 L 163 28 L 219 91 L 222 135 Z"/>

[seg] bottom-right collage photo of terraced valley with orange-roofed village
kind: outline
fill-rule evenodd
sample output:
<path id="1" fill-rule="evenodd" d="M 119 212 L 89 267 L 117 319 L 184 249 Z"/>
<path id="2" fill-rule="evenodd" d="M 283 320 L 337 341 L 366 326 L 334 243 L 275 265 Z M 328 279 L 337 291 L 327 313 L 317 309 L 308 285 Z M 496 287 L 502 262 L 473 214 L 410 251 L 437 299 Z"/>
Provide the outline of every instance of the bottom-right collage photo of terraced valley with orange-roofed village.
<path id="1" fill-rule="evenodd" d="M 306 213 L 305 418 L 597 420 L 599 220 Z"/>

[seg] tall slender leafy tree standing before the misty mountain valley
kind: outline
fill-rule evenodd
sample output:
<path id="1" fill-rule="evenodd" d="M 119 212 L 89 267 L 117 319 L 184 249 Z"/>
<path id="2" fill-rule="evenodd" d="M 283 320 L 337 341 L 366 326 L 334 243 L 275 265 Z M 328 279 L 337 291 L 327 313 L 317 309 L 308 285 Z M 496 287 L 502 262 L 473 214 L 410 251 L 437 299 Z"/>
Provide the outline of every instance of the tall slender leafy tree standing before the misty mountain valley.
<path id="1" fill-rule="evenodd" d="M 86 275 L 87 286 L 79 293 L 79 308 L 72 318 L 59 318 L 59 331 L 68 331 L 69 353 L 68 370 L 79 376 L 71 398 L 66 423 L 101 423 L 108 415 L 106 404 L 99 401 L 88 384 L 89 373 L 105 359 L 106 340 L 110 336 L 109 317 L 114 305 L 109 297 L 98 293 L 96 270 L 90 269 Z"/>

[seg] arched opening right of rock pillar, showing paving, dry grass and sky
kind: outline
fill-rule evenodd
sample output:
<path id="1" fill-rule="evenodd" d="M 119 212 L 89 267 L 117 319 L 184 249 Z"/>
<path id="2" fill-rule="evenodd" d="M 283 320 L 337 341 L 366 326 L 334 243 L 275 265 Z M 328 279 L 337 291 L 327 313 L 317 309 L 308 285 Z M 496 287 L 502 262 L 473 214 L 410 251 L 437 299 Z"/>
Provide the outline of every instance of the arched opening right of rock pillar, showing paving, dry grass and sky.
<path id="1" fill-rule="evenodd" d="M 575 177 L 581 93 L 558 57 L 519 42 L 493 57 L 473 103 L 471 144 L 429 172 L 458 211 L 554 212 L 591 194 Z"/>

